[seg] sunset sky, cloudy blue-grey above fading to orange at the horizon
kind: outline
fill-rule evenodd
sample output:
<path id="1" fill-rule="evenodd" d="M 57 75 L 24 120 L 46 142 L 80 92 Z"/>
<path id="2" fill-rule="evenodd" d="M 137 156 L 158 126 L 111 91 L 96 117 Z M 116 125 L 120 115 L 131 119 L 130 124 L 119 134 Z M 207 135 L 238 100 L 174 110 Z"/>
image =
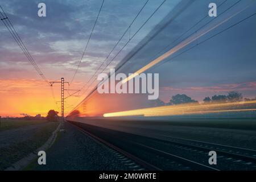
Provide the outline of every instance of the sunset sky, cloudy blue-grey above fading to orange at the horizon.
<path id="1" fill-rule="evenodd" d="M 38 16 L 37 6 L 40 2 L 46 3 L 46 17 Z M 88 82 L 102 61 L 106 59 L 106 56 L 108 56 L 126 28 L 129 27 L 145 2 L 144 0 L 105 0 L 88 44 L 88 49 L 86 49 L 79 71 L 68 87 L 69 89 L 81 89 L 83 86 L 86 89 L 89 87 L 85 83 Z M 129 32 L 109 56 L 107 62 L 112 60 L 112 57 L 137 32 L 138 28 L 161 2 L 148 1 L 141 14 L 131 25 Z M 189 27 L 208 14 L 209 2 L 211 1 L 167 0 L 104 72 L 108 73 L 110 68 L 115 68 L 118 63 L 128 60 L 120 72 L 133 73 L 161 55 L 161 53 L 164 53 L 162 51 L 158 54 L 164 47 L 167 46 L 166 50 L 171 49 L 176 43 L 179 43 L 196 30 L 195 27 L 182 38 L 176 40 Z M 224 1 L 214 2 L 220 5 Z M 228 0 L 221 5 L 218 13 L 228 9 L 235 2 L 237 1 Z M 64 77 L 65 81 L 71 82 L 101 3 L 102 1 L 99 0 L 2 0 L 0 5 L 14 24 L 28 51 L 30 51 L 47 79 L 58 81 L 61 77 Z M 222 31 L 246 16 L 255 13 L 255 3 L 250 4 L 249 7 L 247 7 L 247 3 L 249 1 L 242 1 L 220 15 L 220 18 L 217 16 L 216 20 L 212 24 L 210 23 L 209 26 L 220 23 L 221 20 L 229 18 L 241 10 L 241 7 L 246 7 L 241 13 L 202 36 L 198 42 L 203 42 L 214 33 Z M 209 20 L 210 17 L 205 18 L 197 27 Z M 195 100 L 202 101 L 204 97 L 226 94 L 231 90 L 242 92 L 244 97 L 256 97 L 255 20 L 256 17 L 253 16 L 177 57 L 175 57 L 175 54 L 170 56 L 165 60 L 166 63 L 156 65 L 156 67 L 148 70 L 147 72 L 159 73 L 159 98 L 168 102 L 171 96 L 184 93 Z M 162 28 L 166 22 L 168 22 L 167 26 Z M 148 41 L 158 30 L 158 34 Z M 176 42 L 170 44 L 174 40 Z M 180 52 L 194 46 L 195 43 L 192 42 L 180 49 Z M 135 56 L 129 58 L 142 45 L 143 48 L 139 49 Z M 176 52 L 176 54 L 180 52 Z M 93 89 L 95 85 L 97 85 L 97 82 L 94 82 L 87 89 L 87 92 Z M 21 113 L 46 115 L 49 109 L 60 110 L 60 104 L 56 105 L 55 103 L 60 101 L 60 85 L 54 84 L 52 88 L 53 94 L 49 86 L 37 75 L 26 56 L 23 55 L 4 24 L 1 23 L 0 115 L 22 116 Z M 79 94 L 84 93 L 85 89 Z M 87 92 L 81 97 L 69 97 L 65 102 L 68 106 L 65 113 L 68 113 L 72 107 L 80 103 Z M 131 105 L 141 106 L 136 103 Z M 105 107 L 108 107 L 108 105 L 105 105 Z"/>

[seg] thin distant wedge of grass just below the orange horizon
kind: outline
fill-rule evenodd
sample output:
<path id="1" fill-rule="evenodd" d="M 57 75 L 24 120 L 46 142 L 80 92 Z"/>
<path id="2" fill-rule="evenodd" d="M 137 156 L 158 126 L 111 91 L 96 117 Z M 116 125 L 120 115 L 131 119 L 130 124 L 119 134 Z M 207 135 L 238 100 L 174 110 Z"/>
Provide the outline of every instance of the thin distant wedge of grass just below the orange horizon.
<path id="1" fill-rule="evenodd" d="M 18 127 L 45 123 L 46 120 L 26 120 L 26 119 L 1 119 L 0 131 L 15 129 Z"/>

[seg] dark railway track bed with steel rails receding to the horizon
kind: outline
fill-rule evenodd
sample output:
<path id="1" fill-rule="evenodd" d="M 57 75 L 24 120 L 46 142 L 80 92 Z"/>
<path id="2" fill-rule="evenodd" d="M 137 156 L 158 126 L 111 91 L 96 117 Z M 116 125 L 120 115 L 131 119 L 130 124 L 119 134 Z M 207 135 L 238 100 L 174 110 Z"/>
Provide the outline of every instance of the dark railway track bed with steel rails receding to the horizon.
<path id="1" fill-rule="evenodd" d="M 168 140 L 155 139 L 85 123 L 71 123 L 118 154 L 126 156 L 135 163 L 135 166 L 139 166 L 139 169 L 207 171 L 256 169 L 254 150 L 246 148 L 170 136 L 165 136 Z M 217 165 L 208 164 L 208 152 L 211 150 L 217 152 Z"/>

